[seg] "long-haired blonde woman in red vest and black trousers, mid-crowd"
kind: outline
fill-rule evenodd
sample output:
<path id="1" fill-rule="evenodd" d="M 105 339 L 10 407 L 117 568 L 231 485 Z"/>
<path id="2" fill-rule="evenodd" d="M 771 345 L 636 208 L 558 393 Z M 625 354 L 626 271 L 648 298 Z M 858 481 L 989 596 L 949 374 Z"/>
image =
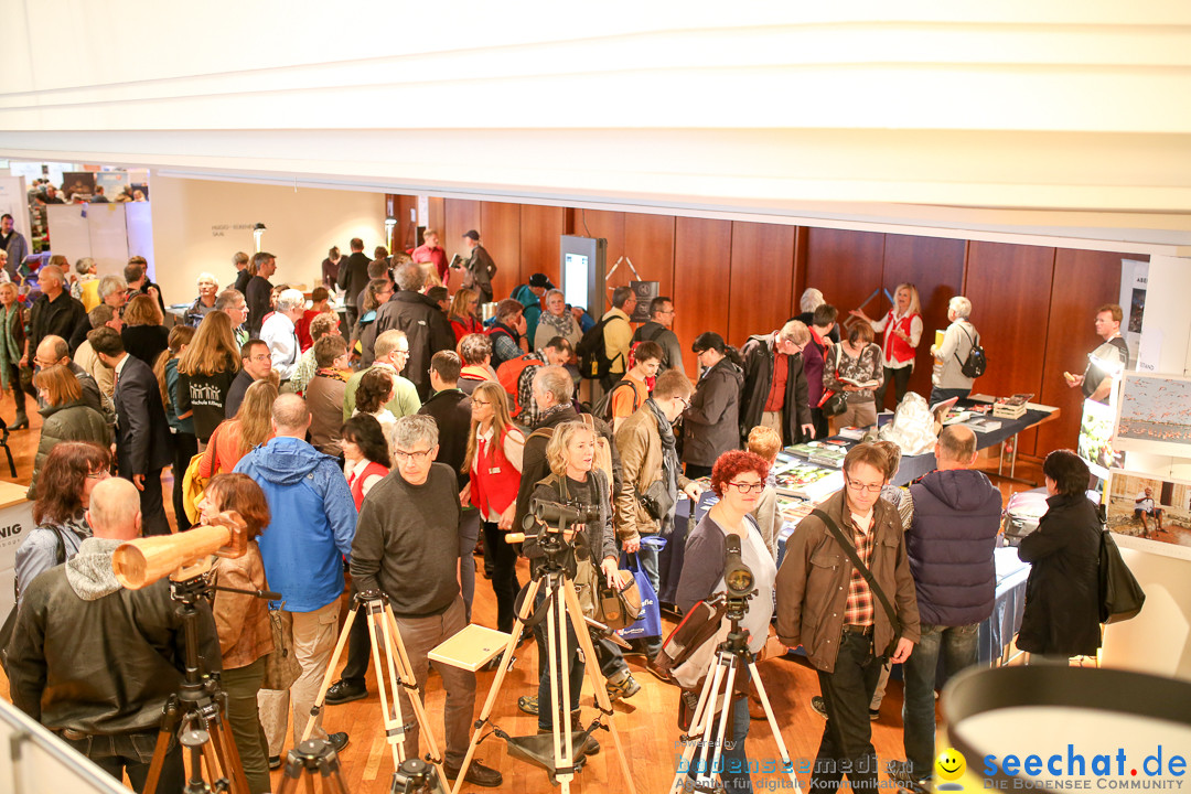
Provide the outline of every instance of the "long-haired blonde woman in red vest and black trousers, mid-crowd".
<path id="1" fill-rule="evenodd" d="M 513 426 L 505 390 L 491 381 L 476 386 L 464 458 L 470 482 L 462 499 L 480 509 L 484 555 L 492 564 L 492 590 L 497 594 L 497 629 L 506 632 L 513 629 L 513 600 L 520 586 L 517 550 L 505 542 L 505 532 L 513 529 L 524 448 L 525 436 Z"/>

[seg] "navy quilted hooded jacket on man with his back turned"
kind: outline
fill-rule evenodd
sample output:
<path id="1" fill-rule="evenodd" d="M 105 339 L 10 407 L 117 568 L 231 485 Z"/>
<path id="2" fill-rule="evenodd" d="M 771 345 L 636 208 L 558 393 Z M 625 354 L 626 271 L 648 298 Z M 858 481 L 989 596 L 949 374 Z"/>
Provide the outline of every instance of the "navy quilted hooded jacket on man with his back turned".
<path id="1" fill-rule="evenodd" d="M 933 626 L 967 626 L 992 614 L 1000 490 L 972 469 L 931 471 L 910 486 L 905 536 L 918 615 Z"/>

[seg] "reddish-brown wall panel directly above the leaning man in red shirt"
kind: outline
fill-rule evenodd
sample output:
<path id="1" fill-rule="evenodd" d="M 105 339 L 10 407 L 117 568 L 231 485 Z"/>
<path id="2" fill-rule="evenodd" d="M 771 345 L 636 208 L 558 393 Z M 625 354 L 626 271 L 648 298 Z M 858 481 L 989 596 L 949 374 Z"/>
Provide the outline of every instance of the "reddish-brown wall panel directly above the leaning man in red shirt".
<path id="1" fill-rule="evenodd" d="M 790 319 L 794 232 L 777 224 L 732 224 L 728 344 L 740 348 L 749 335 Z"/>

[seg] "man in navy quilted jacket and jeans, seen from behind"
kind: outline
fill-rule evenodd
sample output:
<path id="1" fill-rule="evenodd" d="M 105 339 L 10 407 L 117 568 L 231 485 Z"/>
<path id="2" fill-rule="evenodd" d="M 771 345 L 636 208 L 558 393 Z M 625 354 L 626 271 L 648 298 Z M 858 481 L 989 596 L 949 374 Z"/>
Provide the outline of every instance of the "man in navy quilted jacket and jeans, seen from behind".
<path id="1" fill-rule="evenodd" d="M 905 662 L 905 754 L 891 774 L 903 788 L 929 788 L 935 755 L 939 656 L 952 676 L 977 662 L 979 626 L 992 614 L 1000 490 L 972 468 L 975 433 L 949 425 L 935 444 L 939 468 L 910 486 L 906 555 L 918 594 L 922 639 Z"/>

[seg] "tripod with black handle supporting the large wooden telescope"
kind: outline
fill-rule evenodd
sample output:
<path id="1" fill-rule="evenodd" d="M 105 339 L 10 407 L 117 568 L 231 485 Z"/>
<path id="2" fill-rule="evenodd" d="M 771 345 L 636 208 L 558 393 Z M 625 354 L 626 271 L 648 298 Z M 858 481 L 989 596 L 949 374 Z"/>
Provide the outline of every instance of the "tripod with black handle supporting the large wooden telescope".
<path id="1" fill-rule="evenodd" d="M 204 575 L 181 581 L 170 580 L 169 598 L 177 604 L 177 614 L 182 618 L 186 681 L 162 708 L 161 729 L 157 732 L 152 762 L 149 764 L 144 794 L 155 794 L 157 790 L 170 738 L 179 731 L 180 725 L 180 740 L 191 755 L 186 794 L 216 790 L 248 794 L 248 780 L 244 777 L 239 752 L 236 750 L 231 729 L 223 717 L 227 708 L 227 698 L 219 686 L 219 680 L 206 675 L 199 659 L 197 605 L 200 599 L 210 601 L 216 590 L 243 593 L 270 600 L 281 598 L 278 593 L 216 587 Z M 206 764 L 206 777 L 204 777 L 204 764 Z"/>

